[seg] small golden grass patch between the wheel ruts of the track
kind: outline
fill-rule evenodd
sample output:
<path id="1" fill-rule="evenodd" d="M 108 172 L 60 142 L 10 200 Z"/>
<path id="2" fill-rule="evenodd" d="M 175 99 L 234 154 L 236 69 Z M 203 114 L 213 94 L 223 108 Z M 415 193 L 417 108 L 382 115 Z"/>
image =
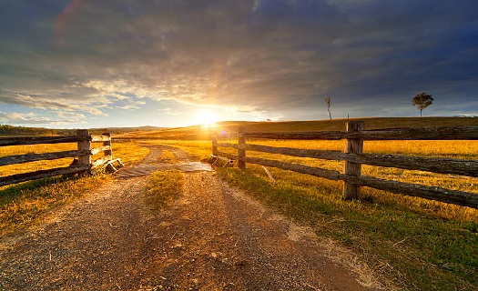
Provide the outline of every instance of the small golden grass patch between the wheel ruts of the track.
<path id="1" fill-rule="evenodd" d="M 158 171 L 151 175 L 144 193 L 144 203 L 155 213 L 178 199 L 183 193 L 184 174 L 177 170 Z"/>

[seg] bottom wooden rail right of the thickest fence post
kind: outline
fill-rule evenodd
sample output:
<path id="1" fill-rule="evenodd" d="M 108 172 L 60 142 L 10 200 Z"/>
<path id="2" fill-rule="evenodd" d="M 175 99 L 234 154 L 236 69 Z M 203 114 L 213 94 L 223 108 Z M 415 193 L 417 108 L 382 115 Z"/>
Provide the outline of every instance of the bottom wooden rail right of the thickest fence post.
<path id="1" fill-rule="evenodd" d="M 457 190 L 444 189 L 434 186 L 422 186 L 391 180 L 383 180 L 371 176 L 346 176 L 341 174 L 341 180 L 346 180 L 357 186 L 385 190 L 406 196 L 422 197 L 425 199 L 441 201 L 457 206 L 468 206 L 478 209 L 478 193 L 469 193 Z"/>

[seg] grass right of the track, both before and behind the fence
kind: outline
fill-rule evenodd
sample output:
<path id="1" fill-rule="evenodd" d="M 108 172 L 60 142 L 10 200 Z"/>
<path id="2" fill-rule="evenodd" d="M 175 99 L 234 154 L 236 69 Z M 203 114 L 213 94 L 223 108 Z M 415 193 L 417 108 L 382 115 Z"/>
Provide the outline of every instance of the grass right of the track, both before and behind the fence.
<path id="1" fill-rule="evenodd" d="M 236 143 L 234 140 L 219 142 Z M 147 141 L 177 146 L 197 160 L 210 155 L 206 141 Z M 343 150 L 343 141 L 248 141 L 265 146 Z M 476 141 L 365 142 L 364 152 L 412 156 L 478 158 Z M 237 154 L 229 148 L 224 152 Z M 343 164 L 310 158 L 247 152 L 258 156 L 342 171 Z M 261 166 L 246 171 L 218 168 L 219 176 L 246 190 L 316 233 L 347 246 L 380 276 L 411 290 L 475 290 L 478 285 L 478 210 L 363 187 L 362 200 L 342 200 L 339 181 Z M 368 176 L 460 189 L 478 195 L 478 179 L 421 171 L 362 166 Z"/>

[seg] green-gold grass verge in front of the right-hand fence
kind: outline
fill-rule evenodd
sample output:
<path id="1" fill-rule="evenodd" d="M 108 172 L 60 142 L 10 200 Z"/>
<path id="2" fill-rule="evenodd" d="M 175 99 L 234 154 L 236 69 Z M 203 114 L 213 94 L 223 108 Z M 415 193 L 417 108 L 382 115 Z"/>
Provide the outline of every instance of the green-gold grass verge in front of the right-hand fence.
<path id="1" fill-rule="evenodd" d="M 219 169 L 219 176 L 230 184 L 309 224 L 318 235 L 351 247 L 375 270 L 407 289 L 474 290 L 478 284 L 478 216 L 466 209 L 450 218 L 445 216 L 451 212 L 441 216 L 427 207 L 415 211 L 392 200 L 388 204 L 346 202 L 340 188 L 333 185 L 337 182 L 308 177 L 310 182 L 315 180 L 310 186 L 301 182 L 304 178 L 298 178 L 300 175 L 287 180 L 281 179 L 278 171 L 274 175 L 279 178 L 277 183 L 271 183 L 259 167 Z M 420 200 L 410 198 L 407 202 L 417 204 Z"/>

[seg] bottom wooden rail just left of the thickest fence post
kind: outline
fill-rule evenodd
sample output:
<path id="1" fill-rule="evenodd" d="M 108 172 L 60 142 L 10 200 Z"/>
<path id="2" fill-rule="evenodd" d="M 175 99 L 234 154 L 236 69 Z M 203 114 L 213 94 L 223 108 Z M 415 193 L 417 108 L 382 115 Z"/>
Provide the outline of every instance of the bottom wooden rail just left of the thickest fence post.
<path id="1" fill-rule="evenodd" d="M 330 180 L 338 180 L 341 174 L 337 171 L 322 169 L 320 167 L 304 166 L 300 164 L 291 164 L 286 162 L 280 162 L 260 157 L 246 157 L 246 163 L 257 164 L 260 166 L 271 166 L 280 168 L 283 170 L 289 170 L 300 174 L 307 174 L 311 176 L 318 176 Z"/>

